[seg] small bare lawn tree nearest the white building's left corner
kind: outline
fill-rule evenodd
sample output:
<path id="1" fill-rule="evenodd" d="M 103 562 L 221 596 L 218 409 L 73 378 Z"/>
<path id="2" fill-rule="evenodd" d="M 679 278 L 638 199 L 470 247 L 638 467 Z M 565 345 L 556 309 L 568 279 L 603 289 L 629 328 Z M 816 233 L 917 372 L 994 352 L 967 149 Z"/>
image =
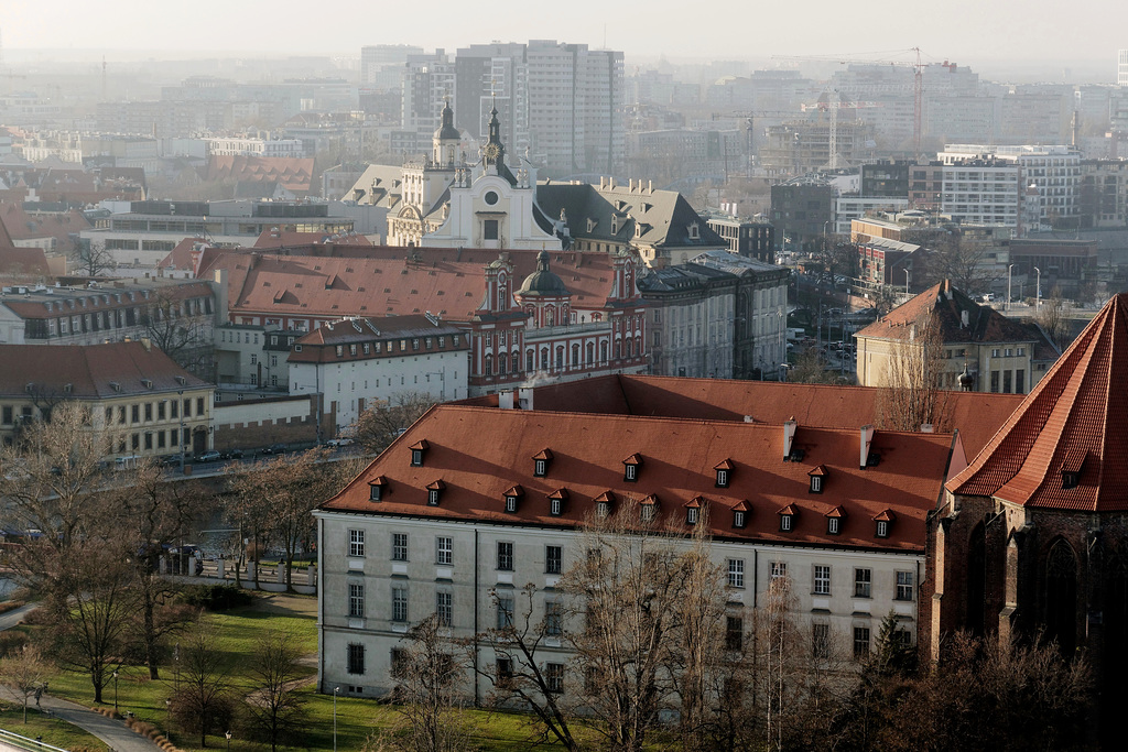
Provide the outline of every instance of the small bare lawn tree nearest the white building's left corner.
<path id="1" fill-rule="evenodd" d="M 302 653 L 291 631 L 267 629 L 255 643 L 250 657 L 253 690 L 245 708 L 256 737 L 271 743 L 271 752 L 280 742 L 294 735 L 307 718 L 306 700 L 298 691 L 305 674 Z"/>

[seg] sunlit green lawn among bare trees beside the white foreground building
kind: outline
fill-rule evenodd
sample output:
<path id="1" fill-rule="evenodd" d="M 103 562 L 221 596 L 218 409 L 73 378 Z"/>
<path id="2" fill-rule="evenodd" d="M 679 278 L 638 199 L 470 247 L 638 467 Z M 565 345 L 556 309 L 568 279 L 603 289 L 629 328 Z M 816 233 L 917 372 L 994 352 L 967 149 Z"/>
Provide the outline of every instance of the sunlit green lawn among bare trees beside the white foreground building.
<path id="1" fill-rule="evenodd" d="M 246 670 L 248 657 L 254 651 L 255 639 L 266 628 L 292 629 L 300 639 L 301 647 L 311 656 L 317 653 L 316 599 L 312 596 L 285 596 L 288 604 L 297 604 L 301 612 L 281 611 L 273 605 L 281 598 L 256 595 L 250 607 L 229 612 L 213 614 L 219 630 L 218 649 L 227 656 L 226 664 L 230 666 L 231 682 L 238 695 L 245 693 L 249 687 Z M 319 695 L 316 688 L 316 669 L 310 660 L 308 667 L 309 683 L 301 691 L 308 702 L 309 720 L 306 724 L 306 735 L 301 746 L 283 747 L 288 752 L 297 750 L 332 750 L 333 749 L 333 697 Z M 127 666 L 121 672 L 117 685 L 118 708 L 133 713 L 141 720 L 149 722 L 160 729 L 167 728 L 165 699 L 174 691 L 176 672 L 174 666 L 161 666 L 161 678 L 149 679 L 144 666 Z M 69 672 L 59 673 L 51 679 L 51 693 L 85 706 L 94 705 L 94 688 L 87 676 Z M 104 690 L 103 700 L 112 706 L 114 702 L 113 682 Z M 519 714 L 487 713 L 483 710 L 465 710 L 460 713 L 469 734 L 469 743 L 479 750 L 497 750 L 501 752 L 528 749 L 530 736 L 530 719 Z M 398 723 L 399 716 L 395 707 L 380 705 L 373 700 L 356 698 L 337 698 L 337 749 L 341 752 L 360 750 L 364 741 L 378 728 L 390 728 Z M 185 751 L 201 749 L 199 735 L 185 735 L 174 727 L 168 734 L 171 741 Z M 209 737 L 209 749 L 226 749 L 222 736 Z M 270 746 L 236 736 L 231 741 L 232 752 L 258 752 Z M 549 745 L 549 749 L 552 746 Z"/>

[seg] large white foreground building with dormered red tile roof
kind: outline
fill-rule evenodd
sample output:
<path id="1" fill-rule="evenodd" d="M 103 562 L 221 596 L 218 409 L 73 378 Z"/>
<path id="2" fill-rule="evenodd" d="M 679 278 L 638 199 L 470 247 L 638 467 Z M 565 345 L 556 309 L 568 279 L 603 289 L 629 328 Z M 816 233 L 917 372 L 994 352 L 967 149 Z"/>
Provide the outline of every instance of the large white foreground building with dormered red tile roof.
<path id="1" fill-rule="evenodd" d="M 698 415 L 705 395 L 711 414 L 724 409 L 708 404 L 719 397 L 711 382 L 690 383 Z M 811 397 L 775 387 L 767 398 L 792 407 Z M 751 626 L 769 583 L 786 577 L 816 643 L 840 636 L 861 658 L 889 613 L 911 639 L 923 618 L 925 520 L 950 461 L 963 462 L 959 434 L 644 417 L 627 414 L 642 407 L 634 397 L 620 413 L 603 408 L 607 395 L 585 392 L 601 414 L 532 409 L 539 395 L 525 390 L 525 409 L 513 393 L 432 408 L 315 512 L 323 691 L 391 691 L 394 652 L 412 625 L 438 614 L 451 637 L 477 645 L 469 638 L 503 623 L 526 583 L 536 590 L 532 622 L 541 621 L 561 603 L 562 574 L 589 556 L 582 529 L 592 514 L 638 515 L 624 522 L 653 521 L 675 540 L 707 520 L 730 630 Z M 569 671 L 566 640 L 548 637 L 538 660 Z M 495 662 L 475 649 L 476 665 Z M 467 681 L 478 682 L 468 695 L 488 693 L 488 680 Z"/>

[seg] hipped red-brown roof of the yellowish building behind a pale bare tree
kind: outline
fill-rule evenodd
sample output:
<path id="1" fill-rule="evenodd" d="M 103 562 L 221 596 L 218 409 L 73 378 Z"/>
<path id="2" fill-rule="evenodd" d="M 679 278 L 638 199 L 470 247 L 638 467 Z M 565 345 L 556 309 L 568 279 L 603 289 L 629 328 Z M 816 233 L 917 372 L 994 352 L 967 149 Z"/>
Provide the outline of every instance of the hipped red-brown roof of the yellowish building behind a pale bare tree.
<path id="1" fill-rule="evenodd" d="M 968 325 L 963 325 L 963 313 Z M 1039 344 L 1045 337 L 1034 326 L 1010 319 L 994 308 L 980 306 L 952 286 L 949 280 L 937 282 L 907 302 L 898 306 L 857 333 L 858 338 L 908 339 L 913 325 L 924 316 L 940 325 L 948 343 L 1029 342 Z"/>

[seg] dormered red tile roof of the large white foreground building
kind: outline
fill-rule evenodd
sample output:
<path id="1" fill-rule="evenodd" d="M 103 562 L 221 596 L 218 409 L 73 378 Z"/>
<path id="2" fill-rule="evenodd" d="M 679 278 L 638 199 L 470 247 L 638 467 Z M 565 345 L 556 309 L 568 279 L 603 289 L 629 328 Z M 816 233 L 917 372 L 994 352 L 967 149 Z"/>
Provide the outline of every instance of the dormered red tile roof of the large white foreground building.
<path id="1" fill-rule="evenodd" d="M 774 542 L 856 546 L 922 551 L 925 517 L 941 497 L 951 434 L 876 432 L 876 467 L 858 468 L 856 430 L 800 427 L 795 444 L 802 462 L 783 461 L 783 430 L 734 422 L 689 421 L 624 415 L 502 410 L 440 405 L 429 410 L 388 450 L 321 508 L 352 513 L 483 520 L 494 523 L 575 527 L 611 492 L 619 498 L 654 497 L 662 521 L 685 531 L 682 505 L 699 498 L 710 507 L 713 533 L 721 538 Z M 411 465 L 408 448 L 428 451 Z M 530 458 L 552 452 L 547 476 L 534 475 Z M 636 483 L 623 480 L 622 457 L 646 458 Z M 713 467 L 730 458 L 730 486 L 715 487 Z M 810 494 L 808 472 L 830 469 L 821 494 Z M 385 478 L 384 499 L 370 501 L 369 484 Z M 438 506 L 429 506 L 426 486 L 446 484 Z M 518 512 L 504 512 L 504 495 L 520 486 Z M 561 516 L 549 514 L 548 498 L 565 490 Z M 746 506 L 741 506 L 741 505 Z M 794 530 L 782 532 L 776 512 L 793 506 Z M 840 506 L 847 516 L 838 536 L 828 536 L 822 515 Z M 733 510 L 751 511 L 747 527 L 733 527 Z M 890 537 L 875 536 L 874 517 L 896 512 Z"/>

